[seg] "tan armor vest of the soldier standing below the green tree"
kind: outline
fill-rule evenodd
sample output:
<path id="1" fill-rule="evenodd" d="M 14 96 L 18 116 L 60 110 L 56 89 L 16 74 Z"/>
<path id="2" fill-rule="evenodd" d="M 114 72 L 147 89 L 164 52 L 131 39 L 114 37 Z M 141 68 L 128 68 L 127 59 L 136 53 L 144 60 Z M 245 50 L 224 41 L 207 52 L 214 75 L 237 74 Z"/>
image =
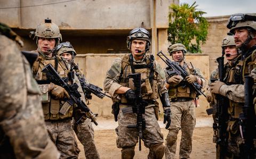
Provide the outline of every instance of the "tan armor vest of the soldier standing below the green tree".
<path id="1" fill-rule="evenodd" d="M 195 75 L 193 68 L 189 69 L 186 63 L 184 64 L 184 66 L 186 67 L 186 71 L 188 72 L 189 75 Z M 175 101 L 177 100 L 177 98 L 196 98 L 196 93 L 194 93 L 193 90 L 190 90 L 188 86 L 184 86 L 183 83 L 179 83 L 179 85 L 175 87 L 170 86 L 168 94 L 170 101 Z"/>

